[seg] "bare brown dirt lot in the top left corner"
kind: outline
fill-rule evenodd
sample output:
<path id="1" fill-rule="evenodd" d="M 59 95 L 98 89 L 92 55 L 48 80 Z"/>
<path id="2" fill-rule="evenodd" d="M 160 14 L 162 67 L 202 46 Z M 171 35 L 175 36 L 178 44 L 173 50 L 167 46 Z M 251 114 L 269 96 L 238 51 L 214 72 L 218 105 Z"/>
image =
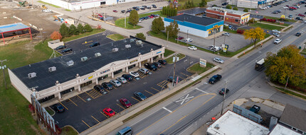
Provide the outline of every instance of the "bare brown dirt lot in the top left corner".
<path id="1" fill-rule="evenodd" d="M 45 39 L 50 37 L 51 33 L 55 30 L 59 30 L 61 23 L 53 21 L 53 16 L 57 16 L 56 13 L 43 13 L 41 7 L 33 6 L 34 8 L 19 7 L 13 1 L 1 1 L 0 2 L 0 25 L 7 25 L 11 23 L 23 23 L 24 25 L 35 25 L 37 28 L 31 27 L 34 40 Z M 22 20 L 13 18 L 16 16 Z M 42 28 L 42 34 L 39 33 L 39 29 Z M 42 35 L 42 37 L 41 37 Z M 29 36 L 15 37 L 14 40 L 7 38 L 6 41 L 14 42 L 16 40 L 28 39 Z M 6 42 L 7 43 L 7 42 Z"/>

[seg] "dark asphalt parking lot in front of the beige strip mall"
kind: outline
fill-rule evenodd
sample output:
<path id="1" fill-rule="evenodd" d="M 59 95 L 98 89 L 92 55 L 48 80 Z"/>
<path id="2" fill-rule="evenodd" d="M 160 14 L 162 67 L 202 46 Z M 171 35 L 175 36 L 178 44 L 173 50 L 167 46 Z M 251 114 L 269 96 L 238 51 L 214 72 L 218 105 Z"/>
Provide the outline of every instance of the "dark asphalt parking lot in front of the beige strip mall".
<path id="1" fill-rule="evenodd" d="M 176 63 L 176 76 L 179 78 L 179 81 L 191 76 L 191 74 L 186 71 L 186 68 L 188 68 L 189 62 L 196 63 L 197 61 L 197 59 L 192 57 L 189 61 L 189 57 L 185 57 Z M 137 70 L 137 67 L 134 67 L 131 71 L 132 70 Z M 102 110 L 104 108 L 110 107 L 116 114 L 125 110 L 125 107 L 117 101 L 120 100 L 120 98 L 127 98 L 132 105 L 135 105 L 140 101 L 133 95 L 134 92 L 141 92 L 149 98 L 162 90 L 167 90 L 167 85 L 169 83 L 167 78 L 173 74 L 173 64 L 163 65 L 157 71 L 150 72 L 152 72 L 152 74 L 145 75 L 139 73 L 138 80 L 134 78 L 133 81 L 109 90 L 107 95 L 102 95 L 96 90 L 93 90 L 94 84 L 86 86 L 89 90 L 85 93 L 61 101 L 60 104 L 65 107 L 65 112 L 56 113 L 53 118 L 56 120 L 59 127 L 70 125 L 78 132 L 85 131 L 95 124 L 99 124 L 109 118 L 103 113 Z M 118 74 L 115 78 L 119 76 L 121 76 L 121 74 Z M 107 78 L 105 78 L 105 80 L 100 81 L 99 84 L 103 81 L 108 82 L 109 79 L 107 80 Z"/>

